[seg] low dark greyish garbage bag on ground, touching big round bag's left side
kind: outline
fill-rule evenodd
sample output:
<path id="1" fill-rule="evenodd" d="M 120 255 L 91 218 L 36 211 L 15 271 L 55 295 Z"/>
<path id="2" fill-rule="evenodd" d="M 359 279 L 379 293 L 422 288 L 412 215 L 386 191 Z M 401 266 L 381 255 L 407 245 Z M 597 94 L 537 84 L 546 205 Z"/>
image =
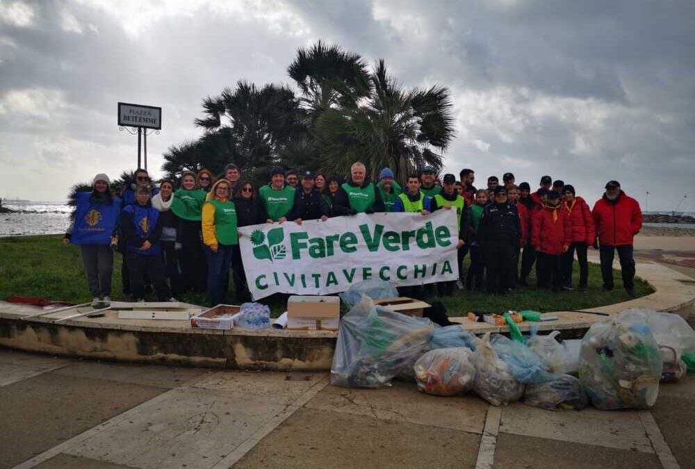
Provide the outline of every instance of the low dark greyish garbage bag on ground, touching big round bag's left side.
<path id="1" fill-rule="evenodd" d="M 581 381 L 571 375 L 559 375 L 546 383 L 529 384 L 523 402 L 550 411 L 580 411 L 589 403 Z"/>

